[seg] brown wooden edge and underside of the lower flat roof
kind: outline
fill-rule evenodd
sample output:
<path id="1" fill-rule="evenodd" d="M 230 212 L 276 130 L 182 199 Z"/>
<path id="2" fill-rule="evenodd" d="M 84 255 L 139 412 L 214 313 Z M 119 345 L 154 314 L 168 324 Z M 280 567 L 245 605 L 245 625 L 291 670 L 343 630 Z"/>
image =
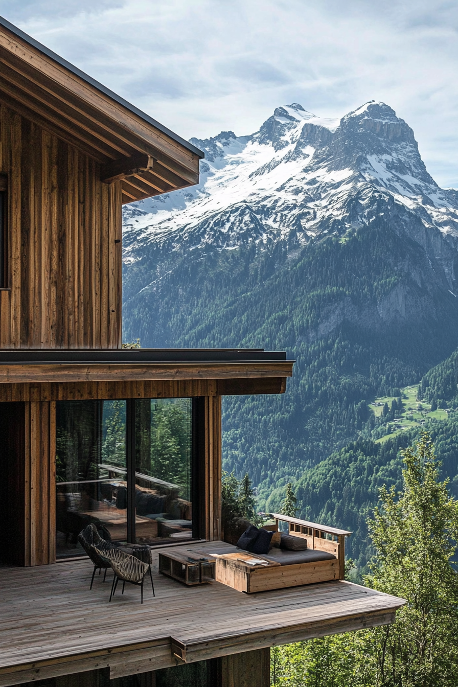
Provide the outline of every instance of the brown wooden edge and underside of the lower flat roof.
<path id="1" fill-rule="evenodd" d="M 1 401 L 282 394 L 293 362 L 0 364 Z"/>

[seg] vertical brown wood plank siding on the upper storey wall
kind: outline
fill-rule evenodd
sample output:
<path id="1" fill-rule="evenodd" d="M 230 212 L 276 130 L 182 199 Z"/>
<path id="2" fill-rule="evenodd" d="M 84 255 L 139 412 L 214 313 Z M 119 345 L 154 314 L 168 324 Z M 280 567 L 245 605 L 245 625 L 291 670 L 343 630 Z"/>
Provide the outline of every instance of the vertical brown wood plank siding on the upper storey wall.
<path id="1" fill-rule="evenodd" d="M 99 165 L 0 105 L 8 175 L 9 289 L 0 348 L 121 346 L 121 186 Z"/>

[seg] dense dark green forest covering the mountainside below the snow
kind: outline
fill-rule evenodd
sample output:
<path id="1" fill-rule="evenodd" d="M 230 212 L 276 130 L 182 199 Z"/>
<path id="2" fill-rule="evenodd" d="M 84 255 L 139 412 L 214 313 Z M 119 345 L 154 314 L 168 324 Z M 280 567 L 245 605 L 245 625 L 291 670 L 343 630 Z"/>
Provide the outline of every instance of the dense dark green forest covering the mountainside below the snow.
<path id="1" fill-rule="evenodd" d="M 456 355 L 440 361 L 458 341 L 455 297 L 415 284 L 426 254 L 376 221 L 293 257 L 284 242 L 271 251 L 182 258 L 157 286 L 154 310 L 145 300 L 128 302 L 126 330 L 142 345 L 155 336 L 165 346 L 286 348 L 297 361 L 286 394 L 224 399 L 225 469 L 239 478 L 249 473 L 260 510 L 278 505 L 293 482 L 301 515 L 354 530 L 350 552 L 360 560 L 360 523 L 380 486 L 398 481 L 396 455 L 411 439 L 362 440 L 376 426 L 369 402 L 421 381 L 425 398 L 453 405 Z M 130 266 L 128 280 L 146 267 Z M 420 307 L 382 321 L 375 313 L 393 289 L 406 300 L 413 292 Z M 444 464 L 452 477 L 454 460 Z"/>

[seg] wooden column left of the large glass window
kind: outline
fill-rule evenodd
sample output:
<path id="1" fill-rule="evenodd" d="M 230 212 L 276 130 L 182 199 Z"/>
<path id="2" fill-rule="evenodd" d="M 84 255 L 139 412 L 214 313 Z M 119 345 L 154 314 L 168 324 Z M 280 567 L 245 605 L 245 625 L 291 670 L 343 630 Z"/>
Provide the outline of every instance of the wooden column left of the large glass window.
<path id="1" fill-rule="evenodd" d="M 25 565 L 56 560 L 56 403 L 25 403 Z"/>

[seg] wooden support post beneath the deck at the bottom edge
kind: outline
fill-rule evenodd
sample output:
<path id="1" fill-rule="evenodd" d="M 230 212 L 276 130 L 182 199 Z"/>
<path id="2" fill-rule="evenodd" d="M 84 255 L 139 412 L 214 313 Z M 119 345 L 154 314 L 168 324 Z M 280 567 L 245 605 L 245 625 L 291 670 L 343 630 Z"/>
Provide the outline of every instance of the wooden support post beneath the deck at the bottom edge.
<path id="1" fill-rule="evenodd" d="M 256 649 L 221 658 L 220 687 L 270 687 L 271 650 Z"/>

